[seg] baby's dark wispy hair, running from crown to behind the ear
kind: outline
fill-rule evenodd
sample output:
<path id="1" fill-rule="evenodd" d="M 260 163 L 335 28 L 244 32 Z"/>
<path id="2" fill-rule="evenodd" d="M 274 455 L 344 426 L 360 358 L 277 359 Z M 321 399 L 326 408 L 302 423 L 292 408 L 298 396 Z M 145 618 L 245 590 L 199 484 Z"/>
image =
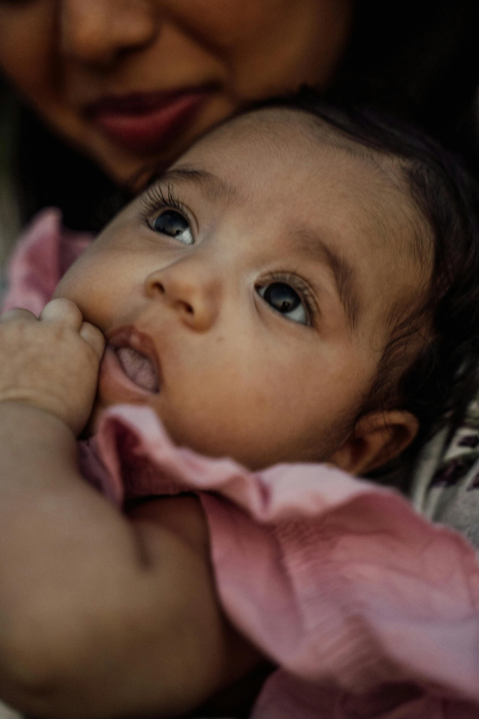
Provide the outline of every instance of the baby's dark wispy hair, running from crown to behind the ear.
<path id="1" fill-rule="evenodd" d="M 405 462 L 445 423 L 453 431 L 478 388 L 479 186 L 458 157 L 420 129 L 368 107 L 328 104 L 310 88 L 261 107 L 305 111 L 353 142 L 396 157 L 411 198 L 429 225 L 432 280 L 419 308 L 398 313 L 361 410 L 401 408 L 417 417 L 419 434 L 403 454 Z M 421 349 L 393 387 L 391 370 L 404 363 L 414 337 L 422 337 Z"/>

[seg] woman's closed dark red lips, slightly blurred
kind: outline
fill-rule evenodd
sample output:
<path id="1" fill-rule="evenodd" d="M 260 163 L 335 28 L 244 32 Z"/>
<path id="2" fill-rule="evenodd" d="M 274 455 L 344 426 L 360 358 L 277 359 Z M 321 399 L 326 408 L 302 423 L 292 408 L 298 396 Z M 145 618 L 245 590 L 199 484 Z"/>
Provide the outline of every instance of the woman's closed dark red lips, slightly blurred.
<path id="1" fill-rule="evenodd" d="M 131 93 L 90 105 L 87 115 L 108 137 L 127 150 L 155 152 L 179 134 L 210 91 Z"/>

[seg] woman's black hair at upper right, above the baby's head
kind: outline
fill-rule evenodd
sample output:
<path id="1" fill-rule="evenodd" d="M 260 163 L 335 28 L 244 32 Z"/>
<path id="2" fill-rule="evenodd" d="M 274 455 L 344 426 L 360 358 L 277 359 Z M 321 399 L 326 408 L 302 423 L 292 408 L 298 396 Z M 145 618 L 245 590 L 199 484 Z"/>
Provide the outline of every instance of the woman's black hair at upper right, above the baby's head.
<path id="1" fill-rule="evenodd" d="M 477 0 L 355 0 L 335 99 L 391 111 L 479 174 Z"/>

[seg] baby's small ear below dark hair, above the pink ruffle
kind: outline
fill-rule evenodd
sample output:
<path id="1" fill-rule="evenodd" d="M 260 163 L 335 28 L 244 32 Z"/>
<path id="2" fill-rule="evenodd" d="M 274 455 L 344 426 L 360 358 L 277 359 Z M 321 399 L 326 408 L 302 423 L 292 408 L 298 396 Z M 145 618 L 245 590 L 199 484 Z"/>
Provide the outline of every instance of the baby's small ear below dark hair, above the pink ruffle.
<path id="1" fill-rule="evenodd" d="M 368 413 L 358 420 L 349 439 L 327 462 L 351 475 L 364 475 L 401 454 L 418 429 L 417 418 L 405 410 Z"/>

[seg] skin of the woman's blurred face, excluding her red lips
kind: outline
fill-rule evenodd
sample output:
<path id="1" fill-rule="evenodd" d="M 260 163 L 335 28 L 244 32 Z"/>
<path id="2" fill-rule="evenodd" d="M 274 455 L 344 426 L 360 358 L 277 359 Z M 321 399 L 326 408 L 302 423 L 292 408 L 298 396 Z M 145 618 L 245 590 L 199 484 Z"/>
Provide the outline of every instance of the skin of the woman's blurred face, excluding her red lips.
<path id="1" fill-rule="evenodd" d="M 353 0 L 0 0 L 0 68 L 60 136 L 136 188 L 248 101 L 325 87 Z M 88 105 L 129 93 L 207 91 L 154 152 L 128 150 Z"/>

